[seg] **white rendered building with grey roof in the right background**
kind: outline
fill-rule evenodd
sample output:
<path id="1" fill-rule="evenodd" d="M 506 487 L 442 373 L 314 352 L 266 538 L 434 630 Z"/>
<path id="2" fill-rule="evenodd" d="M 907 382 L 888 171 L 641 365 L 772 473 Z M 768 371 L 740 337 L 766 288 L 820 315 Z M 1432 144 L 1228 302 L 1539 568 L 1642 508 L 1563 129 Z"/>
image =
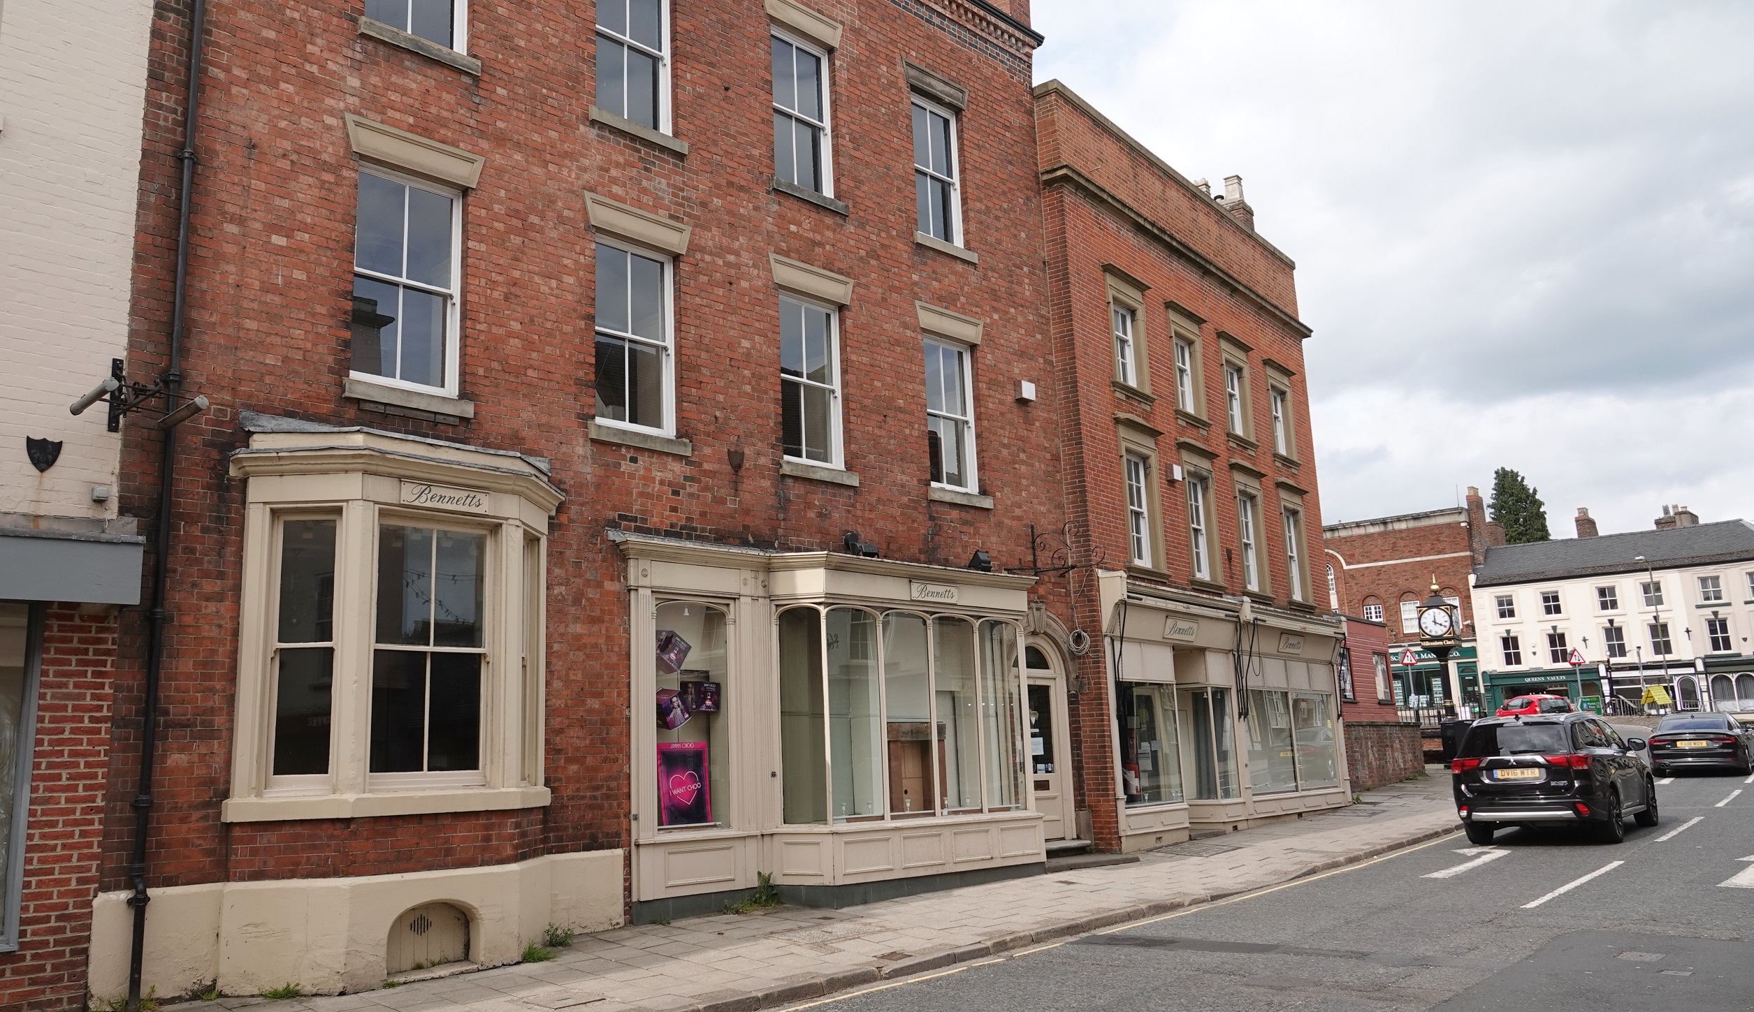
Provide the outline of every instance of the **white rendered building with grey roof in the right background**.
<path id="1" fill-rule="evenodd" d="M 1658 530 L 1598 537 L 1579 514 L 1577 538 L 1491 547 L 1475 567 L 1487 703 L 1638 707 L 1663 688 L 1682 710 L 1754 707 L 1754 524 L 1665 507 Z"/>

